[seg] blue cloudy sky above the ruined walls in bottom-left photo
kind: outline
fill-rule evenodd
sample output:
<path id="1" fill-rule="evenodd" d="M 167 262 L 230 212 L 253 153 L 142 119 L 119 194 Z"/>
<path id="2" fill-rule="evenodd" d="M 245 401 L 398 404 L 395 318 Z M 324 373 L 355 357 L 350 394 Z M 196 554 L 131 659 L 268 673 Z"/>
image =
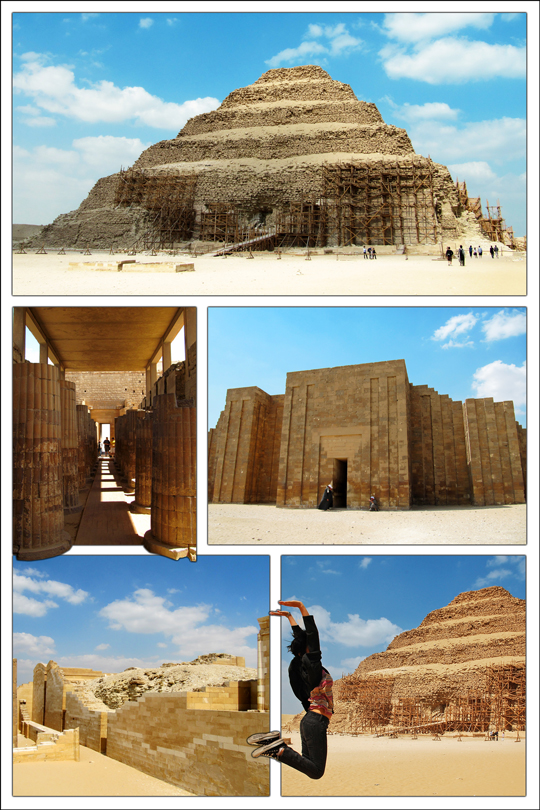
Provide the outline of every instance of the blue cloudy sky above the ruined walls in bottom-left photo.
<path id="1" fill-rule="evenodd" d="M 269 609 L 267 556 L 63 556 L 13 560 L 18 682 L 35 665 L 103 672 L 225 652 L 257 666 L 257 619 Z"/>

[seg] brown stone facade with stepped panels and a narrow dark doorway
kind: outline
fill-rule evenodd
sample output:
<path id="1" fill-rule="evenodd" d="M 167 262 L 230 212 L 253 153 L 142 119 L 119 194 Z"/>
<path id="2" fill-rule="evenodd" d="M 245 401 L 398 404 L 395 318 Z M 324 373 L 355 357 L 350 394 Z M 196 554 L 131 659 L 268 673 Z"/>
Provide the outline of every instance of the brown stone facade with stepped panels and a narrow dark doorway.
<path id="1" fill-rule="evenodd" d="M 525 502 L 526 431 L 511 401 L 453 402 L 404 360 L 296 371 L 285 394 L 234 388 L 209 438 L 209 502 L 313 508 Z"/>

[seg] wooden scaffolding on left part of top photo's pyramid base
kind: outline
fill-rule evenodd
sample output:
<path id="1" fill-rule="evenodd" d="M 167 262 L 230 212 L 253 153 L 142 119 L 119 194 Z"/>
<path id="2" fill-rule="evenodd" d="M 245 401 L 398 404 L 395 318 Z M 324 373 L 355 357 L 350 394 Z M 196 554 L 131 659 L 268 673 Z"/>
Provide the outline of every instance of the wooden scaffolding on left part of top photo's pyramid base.
<path id="1" fill-rule="evenodd" d="M 144 169 L 120 170 L 115 207 L 145 211 L 144 233 L 135 245 L 144 250 L 173 249 L 189 240 L 195 224 L 195 175 L 151 174 Z"/>

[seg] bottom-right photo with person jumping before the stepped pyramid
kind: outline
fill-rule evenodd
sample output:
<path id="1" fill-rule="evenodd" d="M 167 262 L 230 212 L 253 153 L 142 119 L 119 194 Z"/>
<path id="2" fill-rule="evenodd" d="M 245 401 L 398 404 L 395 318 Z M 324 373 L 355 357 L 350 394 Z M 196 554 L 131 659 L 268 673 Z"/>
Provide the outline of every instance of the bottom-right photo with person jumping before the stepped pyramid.
<path id="1" fill-rule="evenodd" d="M 526 795 L 524 555 L 284 554 L 281 574 L 282 796 Z"/>

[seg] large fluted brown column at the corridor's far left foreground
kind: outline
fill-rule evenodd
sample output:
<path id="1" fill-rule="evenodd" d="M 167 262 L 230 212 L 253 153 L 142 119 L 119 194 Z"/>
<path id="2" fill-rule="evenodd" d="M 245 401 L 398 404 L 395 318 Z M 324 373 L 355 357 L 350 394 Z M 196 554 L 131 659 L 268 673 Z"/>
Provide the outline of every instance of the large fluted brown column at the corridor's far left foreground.
<path id="1" fill-rule="evenodd" d="M 13 366 L 13 551 L 43 560 L 72 546 L 64 531 L 60 377 L 56 366 Z"/>

